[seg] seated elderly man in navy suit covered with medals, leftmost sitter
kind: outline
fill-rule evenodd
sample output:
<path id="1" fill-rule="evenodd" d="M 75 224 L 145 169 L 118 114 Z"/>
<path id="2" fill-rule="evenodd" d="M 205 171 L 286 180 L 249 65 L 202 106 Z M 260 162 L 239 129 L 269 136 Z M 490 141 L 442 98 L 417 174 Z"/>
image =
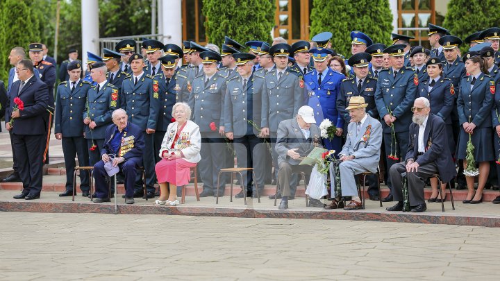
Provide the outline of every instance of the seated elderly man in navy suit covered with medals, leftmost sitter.
<path id="1" fill-rule="evenodd" d="M 127 121 L 125 110 L 120 108 L 113 111 L 112 118 L 114 124 L 106 128 L 101 161 L 94 165 L 96 187 L 94 203 L 110 201 L 108 185 L 106 184 L 106 176 L 108 175 L 106 171 L 118 167 L 125 176 L 125 203 L 133 204 L 135 174 L 137 168 L 142 164 L 144 135 L 142 135 L 141 128 Z"/>

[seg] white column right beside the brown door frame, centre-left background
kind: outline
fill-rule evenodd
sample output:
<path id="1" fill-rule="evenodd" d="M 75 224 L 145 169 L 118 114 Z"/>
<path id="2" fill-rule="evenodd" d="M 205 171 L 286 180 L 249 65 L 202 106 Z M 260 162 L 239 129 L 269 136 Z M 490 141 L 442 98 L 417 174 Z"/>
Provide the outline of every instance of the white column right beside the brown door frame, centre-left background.
<path id="1" fill-rule="evenodd" d="M 182 0 L 163 1 L 158 5 L 162 8 L 163 18 L 158 22 L 162 24 L 163 43 L 174 43 L 182 46 Z"/>

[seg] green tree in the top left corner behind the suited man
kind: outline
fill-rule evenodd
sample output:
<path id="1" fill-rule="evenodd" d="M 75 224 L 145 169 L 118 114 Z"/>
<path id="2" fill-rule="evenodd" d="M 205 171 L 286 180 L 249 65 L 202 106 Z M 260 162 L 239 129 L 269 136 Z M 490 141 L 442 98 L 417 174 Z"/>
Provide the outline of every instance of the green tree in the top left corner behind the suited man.
<path id="1" fill-rule="evenodd" d="M 38 18 L 25 1 L 3 0 L 0 5 L 0 79 L 7 82 L 12 67 L 7 59 L 15 46 L 28 49 L 32 42 L 40 40 Z M 27 56 L 27 54 L 26 54 Z"/>

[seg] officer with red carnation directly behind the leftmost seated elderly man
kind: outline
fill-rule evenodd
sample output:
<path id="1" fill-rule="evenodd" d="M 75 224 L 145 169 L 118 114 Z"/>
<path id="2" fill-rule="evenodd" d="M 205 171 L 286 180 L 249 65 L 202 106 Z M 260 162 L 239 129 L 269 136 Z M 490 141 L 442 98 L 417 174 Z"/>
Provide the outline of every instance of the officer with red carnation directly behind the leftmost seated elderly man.
<path id="1" fill-rule="evenodd" d="M 106 70 L 104 62 L 95 62 L 92 65 L 90 75 L 96 85 L 90 87 L 87 92 L 86 106 L 82 114 L 85 139 L 90 151 L 90 166 L 94 166 L 101 159 L 106 127 L 113 123 L 111 113 L 118 108 L 118 89 L 106 80 Z"/>

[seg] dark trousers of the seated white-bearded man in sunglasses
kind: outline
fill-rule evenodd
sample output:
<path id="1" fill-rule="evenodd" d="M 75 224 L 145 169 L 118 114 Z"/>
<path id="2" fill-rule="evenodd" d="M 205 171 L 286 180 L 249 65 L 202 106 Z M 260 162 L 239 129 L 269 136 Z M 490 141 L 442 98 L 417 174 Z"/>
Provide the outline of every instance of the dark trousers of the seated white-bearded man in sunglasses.
<path id="1" fill-rule="evenodd" d="M 401 176 L 401 173 L 405 172 L 406 164 L 404 162 L 394 164 L 389 169 L 389 178 L 392 181 L 392 196 L 394 196 L 394 201 L 403 201 L 403 177 Z M 437 166 L 434 163 L 419 166 L 417 172 L 406 173 L 410 206 L 425 203 L 425 181 L 435 173 L 437 173 Z"/>

